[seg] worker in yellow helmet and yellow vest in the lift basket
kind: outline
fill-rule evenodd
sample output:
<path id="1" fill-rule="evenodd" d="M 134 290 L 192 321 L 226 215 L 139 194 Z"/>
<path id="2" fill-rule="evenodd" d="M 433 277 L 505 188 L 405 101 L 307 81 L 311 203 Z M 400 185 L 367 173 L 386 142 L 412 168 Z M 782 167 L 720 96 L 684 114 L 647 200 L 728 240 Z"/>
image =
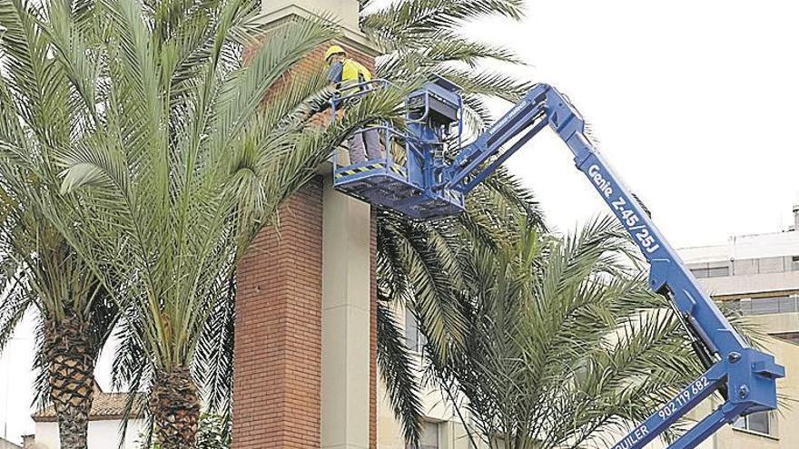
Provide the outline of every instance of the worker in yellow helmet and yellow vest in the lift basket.
<path id="1" fill-rule="evenodd" d="M 351 91 L 354 87 L 350 87 L 350 92 L 348 93 L 348 85 L 355 86 L 360 84 L 360 91 L 370 89 L 368 85 L 363 84 L 371 81 L 369 69 L 364 67 L 363 64 L 348 58 L 347 52 L 339 45 L 332 45 L 325 52 L 325 61 L 330 65 L 330 72 L 328 73 L 330 85 L 340 93 L 353 93 Z M 367 156 L 370 161 L 381 159 L 380 132 L 378 132 L 377 128 L 360 130 L 360 132 L 350 136 L 349 142 L 350 164 L 367 161 Z"/>

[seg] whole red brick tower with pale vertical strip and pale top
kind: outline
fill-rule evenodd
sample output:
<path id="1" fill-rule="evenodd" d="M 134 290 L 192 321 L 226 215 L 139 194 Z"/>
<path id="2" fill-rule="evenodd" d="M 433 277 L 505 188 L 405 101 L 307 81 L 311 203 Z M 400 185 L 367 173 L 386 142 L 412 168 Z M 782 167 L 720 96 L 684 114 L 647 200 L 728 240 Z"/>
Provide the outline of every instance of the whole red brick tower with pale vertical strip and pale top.
<path id="1" fill-rule="evenodd" d="M 357 0 L 262 2 L 266 24 L 338 15 L 337 44 L 371 68 L 358 9 Z M 325 49 L 292 72 L 315 71 Z M 265 229 L 239 267 L 233 449 L 376 449 L 375 225 L 369 205 L 331 190 L 330 166 L 321 172 L 327 180 L 294 195 L 280 228 Z"/>

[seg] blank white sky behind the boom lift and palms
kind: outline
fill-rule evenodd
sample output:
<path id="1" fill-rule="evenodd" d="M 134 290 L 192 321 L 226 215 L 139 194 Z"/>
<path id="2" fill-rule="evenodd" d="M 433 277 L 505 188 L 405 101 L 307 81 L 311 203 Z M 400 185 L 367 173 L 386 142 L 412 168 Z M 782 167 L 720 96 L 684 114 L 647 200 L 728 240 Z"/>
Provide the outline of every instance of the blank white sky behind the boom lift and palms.
<path id="1" fill-rule="evenodd" d="M 799 4 L 529 5 L 521 24 L 485 23 L 469 33 L 515 49 L 530 63 L 519 75 L 567 93 L 607 160 L 674 246 L 724 242 L 793 222 L 791 207 L 799 202 L 799 144 L 793 138 Z M 551 132 L 508 166 L 536 191 L 556 229 L 574 229 L 606 211 Z M 0 358 L 0 436 L 13 441 L 33 433 L 33 337 L 17 334 Z M 107 387 L 107 375 L 99 377 Z"/>

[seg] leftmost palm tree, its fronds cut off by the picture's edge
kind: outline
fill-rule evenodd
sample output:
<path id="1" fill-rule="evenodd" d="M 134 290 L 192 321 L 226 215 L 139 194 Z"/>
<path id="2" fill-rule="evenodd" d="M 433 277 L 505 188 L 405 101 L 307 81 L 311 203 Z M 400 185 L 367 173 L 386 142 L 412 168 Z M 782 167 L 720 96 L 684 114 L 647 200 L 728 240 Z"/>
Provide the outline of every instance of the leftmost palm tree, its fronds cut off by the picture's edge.
<path id="1" fill-rule="evenodd" d="M 86 24 L 89 5 L 50 6 L 0 1 L 0 348 L 34 313 L 36 403 L 54 405 L 62 447 L 85 448 L 94 366 L 118 308 L 46 219 L 59 196 L 57 153 L 92 126 L 83 112 L 97 93 L 83 90 L 96 79 L 75 79 L 62 53 L 65 26 Z M 72 197 L 57 201 L 80 207 Z"/>

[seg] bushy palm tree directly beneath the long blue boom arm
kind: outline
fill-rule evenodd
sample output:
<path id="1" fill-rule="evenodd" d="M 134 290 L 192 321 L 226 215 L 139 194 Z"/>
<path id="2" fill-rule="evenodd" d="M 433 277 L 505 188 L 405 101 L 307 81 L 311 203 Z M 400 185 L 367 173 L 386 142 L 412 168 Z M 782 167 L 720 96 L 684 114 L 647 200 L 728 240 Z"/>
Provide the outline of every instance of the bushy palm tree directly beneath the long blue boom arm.
<path id="1" fill-rule="evenodd" d="M 429 351 L 430 376 L 464 395 L 491 447 L 613 442 L 701 373 L 666 301 L 626 263 L 613 218 L 552 238 L 528 225 L 470 250 L 464 350 Z M 504 445 L 503 445 L 504 444 Z"/>

